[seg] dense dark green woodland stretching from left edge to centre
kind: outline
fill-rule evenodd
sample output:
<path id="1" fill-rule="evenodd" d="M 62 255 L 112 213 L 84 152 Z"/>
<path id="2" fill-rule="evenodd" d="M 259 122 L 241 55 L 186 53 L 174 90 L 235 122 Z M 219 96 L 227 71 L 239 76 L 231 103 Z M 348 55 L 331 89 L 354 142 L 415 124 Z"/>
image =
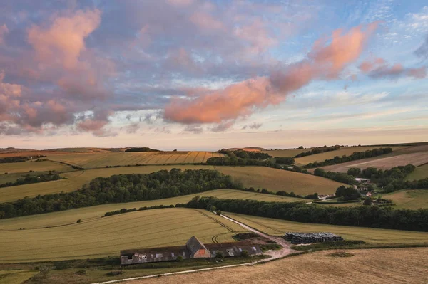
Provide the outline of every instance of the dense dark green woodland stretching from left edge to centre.
<path id="1" fill-rule="evenodd" d="M 100 204 L 165 199 L 213 189 L 238 189 L 230 176 L 209 169 L 161 170 L 151 174 L 98 177 L 82 189 L 0 204 L 0 219 Z"/>

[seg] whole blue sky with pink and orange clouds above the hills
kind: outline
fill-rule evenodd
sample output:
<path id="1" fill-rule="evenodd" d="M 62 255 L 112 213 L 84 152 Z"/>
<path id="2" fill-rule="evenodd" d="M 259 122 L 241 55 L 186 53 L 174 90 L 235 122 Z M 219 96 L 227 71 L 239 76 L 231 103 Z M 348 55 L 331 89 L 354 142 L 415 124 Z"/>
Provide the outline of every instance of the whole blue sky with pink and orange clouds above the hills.
<path id="1" fill-rule="evenodd" d="M 4 1 L 0 147 L 428 141 L 427 1 Z"/>

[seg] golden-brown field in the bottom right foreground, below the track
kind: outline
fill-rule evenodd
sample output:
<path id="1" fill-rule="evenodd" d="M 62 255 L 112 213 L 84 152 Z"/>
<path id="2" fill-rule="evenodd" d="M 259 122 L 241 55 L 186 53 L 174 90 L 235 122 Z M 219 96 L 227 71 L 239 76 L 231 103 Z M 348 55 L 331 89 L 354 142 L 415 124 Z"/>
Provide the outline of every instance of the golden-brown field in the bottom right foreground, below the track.
<path id="1" fill-rule="evenodd" d="M 354 256 L 335 258 L 335 251 L 317 251 L 264 265 L 128 281 L 127 284 L 171 283 L 427 283 L 428 248 L 387 248 L 347 251 Z"/>

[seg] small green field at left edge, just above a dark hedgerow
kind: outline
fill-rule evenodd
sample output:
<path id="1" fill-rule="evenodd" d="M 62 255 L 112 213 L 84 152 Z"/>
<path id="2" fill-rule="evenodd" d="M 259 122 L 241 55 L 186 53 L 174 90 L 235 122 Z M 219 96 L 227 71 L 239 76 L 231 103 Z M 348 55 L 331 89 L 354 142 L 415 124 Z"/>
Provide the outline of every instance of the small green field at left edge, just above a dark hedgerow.
<path id="1" fill-rule="evenodd" d="M 68 167 L 66 164 L 59 164 L 57 162 L 43 161 L 43 162 L 19 162 L 19 163 L 4 163 L 0 164 L 0 173 L 16 173 L 16 172 L 69 172 L 73 168 Z"/>

